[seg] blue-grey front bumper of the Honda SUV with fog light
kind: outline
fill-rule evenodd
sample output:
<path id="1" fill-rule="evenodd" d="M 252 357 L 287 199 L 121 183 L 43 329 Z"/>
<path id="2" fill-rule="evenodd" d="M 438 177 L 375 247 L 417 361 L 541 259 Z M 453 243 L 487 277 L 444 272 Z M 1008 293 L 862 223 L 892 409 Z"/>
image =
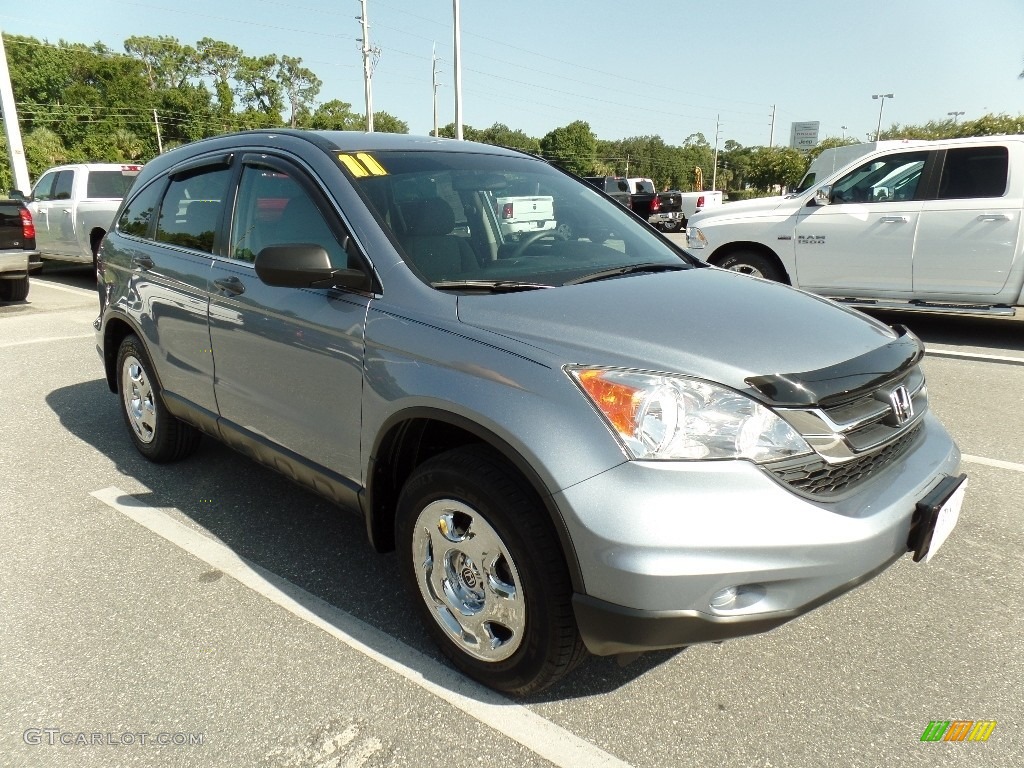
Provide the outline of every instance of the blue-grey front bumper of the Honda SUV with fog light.
<path id="1" fill-rule="evenodd" d="M 626 462 L 566 488 L 555 501 L 585 584 L 573 598 L 584 641 L 607 655 L 784 624 L 906 554 L 916 503 L 958 466 L 929 414 L 898 462 L 837 502 L 744 461 Z"/>

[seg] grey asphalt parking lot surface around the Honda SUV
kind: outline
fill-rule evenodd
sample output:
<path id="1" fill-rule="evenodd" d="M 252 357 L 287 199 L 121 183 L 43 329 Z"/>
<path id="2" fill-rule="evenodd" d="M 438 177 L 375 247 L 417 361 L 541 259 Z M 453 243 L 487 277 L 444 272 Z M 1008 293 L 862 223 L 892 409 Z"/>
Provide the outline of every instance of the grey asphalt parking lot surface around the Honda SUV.
<path id="1" fill-rule="evenodd" d="M 0 304 L 0 766 L 1024 765 L 1024 322 L 879 315 L 927 342 L 971 478 L 931 563 L 511 701 L 440 660 L 356 518 L 210 440 L 138 456 L 89 280 Z"/>

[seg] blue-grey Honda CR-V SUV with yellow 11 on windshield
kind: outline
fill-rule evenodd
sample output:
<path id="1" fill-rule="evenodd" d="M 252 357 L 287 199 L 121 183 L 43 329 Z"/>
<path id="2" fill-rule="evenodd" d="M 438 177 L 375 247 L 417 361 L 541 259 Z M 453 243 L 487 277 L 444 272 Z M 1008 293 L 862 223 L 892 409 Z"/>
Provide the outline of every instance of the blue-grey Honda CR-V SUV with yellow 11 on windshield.
<path id="1" fill-rule="evenodd" d="M 136 447 L 206 433 L 353 510 L 495 688 L 769 630 L 956 521 L 911 333 L 702 265 L 538 158 L 225 135 L 115 223 L 97 343 Z"/>

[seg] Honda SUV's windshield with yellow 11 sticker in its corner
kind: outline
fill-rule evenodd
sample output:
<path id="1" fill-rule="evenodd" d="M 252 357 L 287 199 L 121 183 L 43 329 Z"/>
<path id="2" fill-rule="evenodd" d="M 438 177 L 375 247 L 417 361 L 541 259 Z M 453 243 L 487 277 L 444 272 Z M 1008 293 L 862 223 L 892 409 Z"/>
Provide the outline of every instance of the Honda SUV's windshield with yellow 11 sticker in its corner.
<path id="1" fill-rule="evenodd" d="M 438 289 L 532 289 L 693 264 L 542 161 L 422 151 L 338 159 L 349 171 L 370 169 L 353 182 L 407 262 Z"/>

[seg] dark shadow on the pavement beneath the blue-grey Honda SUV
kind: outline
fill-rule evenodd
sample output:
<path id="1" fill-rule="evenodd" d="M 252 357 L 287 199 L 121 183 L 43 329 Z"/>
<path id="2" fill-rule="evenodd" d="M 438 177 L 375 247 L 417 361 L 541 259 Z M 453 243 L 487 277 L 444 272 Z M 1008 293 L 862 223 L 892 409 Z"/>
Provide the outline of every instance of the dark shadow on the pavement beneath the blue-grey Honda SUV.
<path id="1" fill-rule="evenodd" d="M 140 503 L 178 510 L 250 562 L 447 664 L 420 624 L 409 621 L 416 606 L 400 583 L 396 555 L 374 552 L 361 518 L 208 437 L 182 462 L 151 463 L 132 445 L 105 380 L 56 389 L 46 401 L 65 428 L 151 489 L 135 497 Z M 614 690 L 678 653 L 649 653 L 625 666 L 615 657 L 591 657 L 527 702 Z M 473 695 L 473 688 L 462 692 Z"/>

